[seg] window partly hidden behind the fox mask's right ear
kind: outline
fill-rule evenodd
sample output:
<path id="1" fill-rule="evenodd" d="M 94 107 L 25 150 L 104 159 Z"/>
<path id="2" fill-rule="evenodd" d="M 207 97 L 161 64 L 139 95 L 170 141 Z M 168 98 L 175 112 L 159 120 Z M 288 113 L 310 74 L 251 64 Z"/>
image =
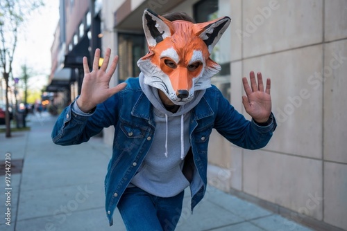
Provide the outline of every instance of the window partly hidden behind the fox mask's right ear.
<path id="1" fill-rule="evenodd" d="M 211 21 L 221 17 L 218 11 L 218 3 L 218 0 L 201 0 L 194 4 L 193 10 L 196 22 Z M 223 39 L 228 39 L 226 33 L 223 34 L 219 42 L 214 46 L 210 55 L 211 59 L 221 66 L 221 71 L 212 77 L 211 82 L 221 90 L 225 98 L 230 100 L 230 52 L 228 52 L 228 47 L 221 47 Z M 228 44 L 228 42 L 223 42 L 223 44 Z"/>

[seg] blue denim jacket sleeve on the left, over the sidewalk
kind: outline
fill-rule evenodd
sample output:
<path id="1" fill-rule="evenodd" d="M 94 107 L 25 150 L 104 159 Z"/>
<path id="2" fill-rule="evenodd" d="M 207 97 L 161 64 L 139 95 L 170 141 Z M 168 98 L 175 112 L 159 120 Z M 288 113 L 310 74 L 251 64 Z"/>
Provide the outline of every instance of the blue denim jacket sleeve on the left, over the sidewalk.
<path id="1" fill-rule="evenodd" d="M 117 122 L 117 94 L 98 104 L 89 115 L 74 111 L 75 103 L 76 100 L 62 111 L 53 127 L 51 138 L 56 145 L 81 144 Z"/>

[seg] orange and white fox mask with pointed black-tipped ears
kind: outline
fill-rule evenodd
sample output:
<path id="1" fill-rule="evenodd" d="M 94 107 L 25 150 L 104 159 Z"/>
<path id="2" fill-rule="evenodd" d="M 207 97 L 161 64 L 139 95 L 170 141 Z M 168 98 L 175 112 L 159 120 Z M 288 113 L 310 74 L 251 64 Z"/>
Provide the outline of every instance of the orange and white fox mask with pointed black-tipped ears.
<path id="1" fill-rule="evenodd" d="M 146 9 L 142 20 L 149 53 L 137 66 L 144 74 L 144 84 L 160 89 L 176 105 L 191 101 L 194 91 L 208 89 L 211 77 L 221 70 L 210 54 L 230 18 L 193 24 L 169 21 Z"/>

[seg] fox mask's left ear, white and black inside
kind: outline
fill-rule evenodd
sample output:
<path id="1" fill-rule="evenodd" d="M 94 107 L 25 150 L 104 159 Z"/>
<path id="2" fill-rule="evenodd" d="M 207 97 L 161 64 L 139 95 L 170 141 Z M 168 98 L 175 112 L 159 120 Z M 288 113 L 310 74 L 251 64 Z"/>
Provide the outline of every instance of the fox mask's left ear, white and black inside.
<path id="1" fill-rule="evenodd" d="M 171 30 L 168 25 L 170 23 L 169 20 L 160 18 L 155 12 L 149 9 L 144 10 L 142 25 L 149 46 L 155 46 L 164 38 L 171 36 Z"/>

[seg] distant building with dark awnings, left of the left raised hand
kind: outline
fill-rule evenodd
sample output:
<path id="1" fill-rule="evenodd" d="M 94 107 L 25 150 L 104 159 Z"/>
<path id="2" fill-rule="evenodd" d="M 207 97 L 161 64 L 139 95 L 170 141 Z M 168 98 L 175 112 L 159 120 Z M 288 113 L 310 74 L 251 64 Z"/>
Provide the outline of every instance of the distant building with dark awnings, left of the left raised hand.
<path id="1" fill-rule="evenodd" d="M 51 46 L 49 86 L 53 108 L 62 109 L 81 93 L 83 57 L 89 64 L 94 50 L 101 48 L 101 6 L 98 0 L 60 0 L 60 20 Z"/>

